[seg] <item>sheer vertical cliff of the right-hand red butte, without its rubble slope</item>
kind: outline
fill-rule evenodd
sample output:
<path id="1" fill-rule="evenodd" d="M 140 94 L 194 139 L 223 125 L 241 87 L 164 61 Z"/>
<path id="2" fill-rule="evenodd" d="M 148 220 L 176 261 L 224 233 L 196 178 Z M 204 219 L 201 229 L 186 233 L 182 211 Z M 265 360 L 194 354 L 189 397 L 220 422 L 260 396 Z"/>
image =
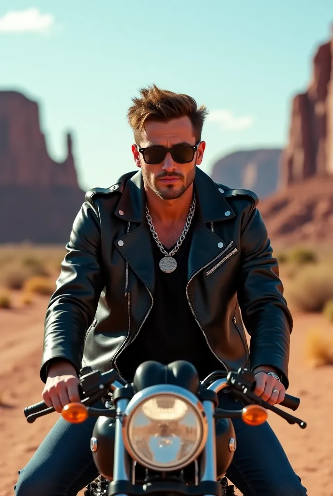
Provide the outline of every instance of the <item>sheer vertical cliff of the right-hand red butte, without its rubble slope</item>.
<path id="1" fill-rule="evenodd" d="M 289 143 L 281 159 L 282 189 L 333 174 L 333 37 L 319 47 L 312 81 L 292 102 Z"/>

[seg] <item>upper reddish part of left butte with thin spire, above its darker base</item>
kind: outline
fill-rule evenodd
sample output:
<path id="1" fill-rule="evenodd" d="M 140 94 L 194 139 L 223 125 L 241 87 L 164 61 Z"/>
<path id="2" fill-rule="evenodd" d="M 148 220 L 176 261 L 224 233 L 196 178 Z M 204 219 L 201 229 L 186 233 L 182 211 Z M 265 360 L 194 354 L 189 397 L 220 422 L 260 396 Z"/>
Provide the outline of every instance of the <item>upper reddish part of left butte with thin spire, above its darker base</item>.
<path id="1" fill-rule="evenodd" d="M 0 91 L 0 186 L 78 189 L 70 135 L 67 148 L 62 163 L 52 160 L 37 103 L 16 91 Z"/>

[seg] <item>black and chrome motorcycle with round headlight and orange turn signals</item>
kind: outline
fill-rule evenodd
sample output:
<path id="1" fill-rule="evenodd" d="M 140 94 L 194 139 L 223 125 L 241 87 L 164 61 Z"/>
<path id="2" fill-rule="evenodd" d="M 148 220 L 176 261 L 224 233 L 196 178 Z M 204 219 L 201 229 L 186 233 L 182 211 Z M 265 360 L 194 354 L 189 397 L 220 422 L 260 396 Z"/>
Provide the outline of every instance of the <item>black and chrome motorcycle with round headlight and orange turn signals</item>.
<path id="1" fill-rule="evenodd" d="M 81 369 L 81 402 L 64 406 L 62 417 L 74 424 L 97 417 L 90 448 L 100 476 L 85 496 L 234 495 L 225 477 L 236 450 L 230 419 L 257 426 L 272 411 L 306 428 L 302 420 L 256 396 L 254 388 L 255 376 L 247 369 L 213 372 L 200 382 L 193 365 L 184 361 L 168 366 L 145 362 L 132 383 L 115 369 Z M 243 408 L 218 408 L 220 391 Z M 106 409 L 91 406 L 102 398 Z M 287 394 L 281 405 L 296 410 L 299 403 Z M 24 415 L 32 423 L 54 411 L 40 402 L 26 407 Z"/>

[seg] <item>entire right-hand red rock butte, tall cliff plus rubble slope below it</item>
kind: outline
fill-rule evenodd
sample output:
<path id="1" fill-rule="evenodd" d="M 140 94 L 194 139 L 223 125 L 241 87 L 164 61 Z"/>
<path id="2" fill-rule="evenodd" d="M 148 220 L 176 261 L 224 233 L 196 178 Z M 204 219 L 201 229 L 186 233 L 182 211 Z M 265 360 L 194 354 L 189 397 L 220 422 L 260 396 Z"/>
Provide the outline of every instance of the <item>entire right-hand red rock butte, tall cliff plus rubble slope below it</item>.
<path id="1" fill-rule="evenodd" d="M 274 243 L 333 241 L 333 34 L 312 63 L 312 79 L 291 104 L 278 191 L 259 209 Z"/>

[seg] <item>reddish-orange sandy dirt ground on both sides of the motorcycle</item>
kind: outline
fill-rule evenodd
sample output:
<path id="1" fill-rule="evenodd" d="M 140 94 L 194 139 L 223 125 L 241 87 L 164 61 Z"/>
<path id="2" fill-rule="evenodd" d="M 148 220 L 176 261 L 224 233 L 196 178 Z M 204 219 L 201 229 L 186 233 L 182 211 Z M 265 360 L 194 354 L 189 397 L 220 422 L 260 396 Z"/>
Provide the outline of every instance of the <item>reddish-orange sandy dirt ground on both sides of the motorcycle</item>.
<path id="1" fill-rule="evenodd" d="M 26 309 L 0 310 L 0 496 L 14 494 L 17 471 L 58 417 L 55 413 L 28 424 L 23 415 L 25 406 L 41 399 L 39 366 L 47 303 L 39 298 Z M 319 315 L 297 315 L 294 322 L 288 392 L 301 398 L 297 416 L 308 427 L 290 426 L 274 414 L 269 422 L 308 495 L 333 496 L 333 367 L 308 368 L 303 349 L 308 328 L 333 329 Z"/>

